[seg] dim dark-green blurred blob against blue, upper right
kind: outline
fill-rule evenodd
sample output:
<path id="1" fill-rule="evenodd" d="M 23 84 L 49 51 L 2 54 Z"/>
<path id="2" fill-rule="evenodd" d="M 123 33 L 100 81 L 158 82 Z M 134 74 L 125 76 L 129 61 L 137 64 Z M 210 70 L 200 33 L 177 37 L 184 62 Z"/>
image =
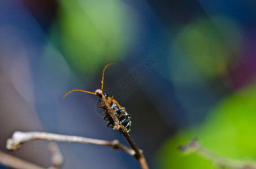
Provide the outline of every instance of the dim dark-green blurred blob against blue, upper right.
<path id="1" fill-rule="evenodd" d="M 192 21 L 181 30 L 177 42 L 198 71 L 211 78 L 227 71 L 241 43 L 239 34 L 240 29 L 233 20 L 215 16 Z"/>

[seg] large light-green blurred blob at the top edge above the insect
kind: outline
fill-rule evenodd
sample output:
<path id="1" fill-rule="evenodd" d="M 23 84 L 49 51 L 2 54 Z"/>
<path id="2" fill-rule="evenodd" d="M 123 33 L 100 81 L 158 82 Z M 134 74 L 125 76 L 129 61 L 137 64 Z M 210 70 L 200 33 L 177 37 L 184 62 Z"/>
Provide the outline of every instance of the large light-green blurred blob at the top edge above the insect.
<path id="1" fill-rule="evenodd" d="M 101 0 L 59 3 L 59 24 L 53 26 L 51 37 L 78 73 L 93 75 L 102 65 L 122 59 L 135 34 L 128 6 Z"/>

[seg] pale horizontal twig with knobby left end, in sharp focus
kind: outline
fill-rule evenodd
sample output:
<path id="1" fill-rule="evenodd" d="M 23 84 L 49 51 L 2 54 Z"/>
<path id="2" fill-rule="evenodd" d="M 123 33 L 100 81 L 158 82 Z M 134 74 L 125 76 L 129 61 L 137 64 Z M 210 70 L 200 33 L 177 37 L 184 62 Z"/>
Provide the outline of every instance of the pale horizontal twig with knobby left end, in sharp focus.
<path id="1" fill-rule="evenodd" d="M 118 140 L 106 141 L 98 139 L 90 139 L 86 137 L 79 136 L 67 136 L 59 134 L 51 134 L 47 132 L 21 132 L 15 131 L 10 139 L 7 140 L 6 148 L 8 150 L 15 151 L 20 148 L 20 146 L 31 140 L 53 140 L 53 141 L 67 141 L 70 143 L 83 143 L 83 144 L 96 144 L 110 146 L 113 149 L 121 149 L 124 152 L 134 155 L 134 150 L 128 148 L 125 145 L 119 143 Z"/>

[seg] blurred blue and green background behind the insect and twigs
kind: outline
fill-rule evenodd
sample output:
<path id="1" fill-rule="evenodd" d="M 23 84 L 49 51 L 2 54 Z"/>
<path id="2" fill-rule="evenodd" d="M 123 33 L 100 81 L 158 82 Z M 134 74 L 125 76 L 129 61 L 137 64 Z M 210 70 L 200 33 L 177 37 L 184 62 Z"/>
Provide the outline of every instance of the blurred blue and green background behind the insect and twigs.
<path id="1" fill-rule="evenodd" d="M 256 1 L 0 1 L 0 149 L 14 131 L 104 140 L 96 96 L 132 115 L 131 136 L 151 168 L 212 168 L 177 146 L 256 159 Z M 133 75 L 133 76 L 132 76 Z M 135 76 L 136 75 L 136 76 Z M 17 157 L 49 167 L 47 141 Z M 120 150 L 59 143 L 63 168 L 140 168 Z"/>

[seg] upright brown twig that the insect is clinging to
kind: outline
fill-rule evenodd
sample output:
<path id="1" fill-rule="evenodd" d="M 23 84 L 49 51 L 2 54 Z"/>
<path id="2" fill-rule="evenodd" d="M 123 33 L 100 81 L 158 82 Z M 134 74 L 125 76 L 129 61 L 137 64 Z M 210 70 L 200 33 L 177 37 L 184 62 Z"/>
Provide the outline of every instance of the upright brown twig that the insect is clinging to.
<path id="1" fill-rule="evenodd" d="M 138 160 L 138 162 L 140 162 L 141 168 L 143 168 L 143 169 L 149 168 L 149 166 L 147 165 L 146 159 L 144 157 L 144 154 L 142 153 L 142 150 L 138 149 L 138 146 L 132 140 L 132 137 L 128 134 L 126 128 L 120 123 L 118 117 L 116 117 L 114 111 L 111 109 L 106 98 L 103 97 L 102 91 L 98 89 L 95 92 L 96 92 L 96 95 L 101 99 L 102 104 L 105 106 L 105 108 L 107 108 L 112 119 L 114 120 L 114 130 L 120 131 L 123 134 L 123 136 L 127 140 L 128 144 L 134 150 L 135 154 L 133 156 L 134 156 L 134 158 L 136 158 Z"/>

